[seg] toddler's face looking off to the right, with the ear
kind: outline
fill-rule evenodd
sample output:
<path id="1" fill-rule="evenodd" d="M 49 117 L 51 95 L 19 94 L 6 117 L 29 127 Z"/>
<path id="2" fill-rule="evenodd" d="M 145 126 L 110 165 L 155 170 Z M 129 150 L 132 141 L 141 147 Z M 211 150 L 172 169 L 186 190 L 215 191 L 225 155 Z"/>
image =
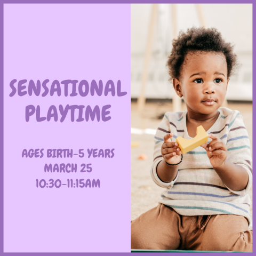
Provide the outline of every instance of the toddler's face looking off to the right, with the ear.
<path id="1" fill-rule="evenodd" d="M 188 110 L 206 115 L 214 113 L 225 100 L 229 81 L 227 73 L 223 54 L 187 54 L 182 65 L 178 93 L 183 95 Z"/>

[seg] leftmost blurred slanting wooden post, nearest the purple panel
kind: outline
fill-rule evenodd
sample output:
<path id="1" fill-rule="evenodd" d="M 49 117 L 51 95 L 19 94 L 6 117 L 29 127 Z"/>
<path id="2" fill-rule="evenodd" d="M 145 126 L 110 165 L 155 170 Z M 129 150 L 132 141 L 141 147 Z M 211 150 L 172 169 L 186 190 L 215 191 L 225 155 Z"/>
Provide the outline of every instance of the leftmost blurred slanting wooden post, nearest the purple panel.
<path id="1" fill-rule="evenodd" d="M 138 110 L 140 112 L 143 111 L 145 107 L 145 88 L 146 88 L 146 83 L 148 79 L 148 67 L 149 67 L 149 62 L 151 59 L 151 51 L 152 51 L 152 45 L 153 45 L 153 39 L 154 39 L 154 30 L 155 30 L 155 25 L 157 21 L 157 4 L 152 5 L 152 12 L 151 12 L 151 19 L 150 19 L 150 25 L 149 25 L 149 33 L 148 33 L 148 41 L 147 41 L 147 48 L 145 52 L 145 61 L 144 61 L 144 67 L 143 67 L 143 73 L 142 73 L 142 82 L 141 82 L 141 91 L 140 91 L 140 97 L 138 98 Z"/>

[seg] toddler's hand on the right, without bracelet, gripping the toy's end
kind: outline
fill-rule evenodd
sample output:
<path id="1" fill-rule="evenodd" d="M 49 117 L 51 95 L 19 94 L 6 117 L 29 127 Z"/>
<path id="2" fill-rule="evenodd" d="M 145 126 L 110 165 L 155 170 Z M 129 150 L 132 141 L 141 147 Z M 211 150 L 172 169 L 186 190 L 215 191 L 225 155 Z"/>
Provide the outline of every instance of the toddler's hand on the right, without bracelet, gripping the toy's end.
<path id="1" fill-rule="evenodd" d="M 225 163 L 228 155 L 227 145 L 211 133 L 208 134 L 208 137 L 211 138 L 212 141 L 209 144 L 204 143 L 201 147 L 207 151 L 207 156 L 210 159 L 212 167 L 221 167 Z"/>

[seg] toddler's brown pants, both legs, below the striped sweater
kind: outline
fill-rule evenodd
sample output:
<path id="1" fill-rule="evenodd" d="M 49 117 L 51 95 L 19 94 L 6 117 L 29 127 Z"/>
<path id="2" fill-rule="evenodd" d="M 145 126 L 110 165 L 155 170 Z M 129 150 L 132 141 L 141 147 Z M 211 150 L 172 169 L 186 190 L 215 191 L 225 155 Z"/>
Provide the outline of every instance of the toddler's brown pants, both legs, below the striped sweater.
<path id="1" fill-rule="evenodd" d="M 131 222 L 131 248 L 252 252 L 252 230 L 243 216 L 183 216 L 158 204 Z"/>

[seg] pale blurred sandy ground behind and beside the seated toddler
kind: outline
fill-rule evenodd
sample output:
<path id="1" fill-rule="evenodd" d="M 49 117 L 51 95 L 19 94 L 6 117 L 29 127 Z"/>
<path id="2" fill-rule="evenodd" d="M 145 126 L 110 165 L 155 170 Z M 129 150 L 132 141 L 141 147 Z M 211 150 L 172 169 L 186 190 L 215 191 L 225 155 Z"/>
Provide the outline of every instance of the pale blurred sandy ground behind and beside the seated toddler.
<path id="1" fill-rule="evenodd" d="M 252 104 L 229 103 L 228 108 L 241 112 L 249 133 L 252 153 Z M 186 110 L 185 105 L 182 105 L 182 110 Z M 146 103 L 145 111 L 140 115 L 136 103 L 132 102 L 131 127 L 156 130 L 162 119 L 158 119 L 157 116 L 167 111 L 172 111 L 172 103 Z M 163 188 L 158 187 L 150 177 L 150 167 L 153 163 L 153 138 L 153 134 L 131 134 L 131 141 L 139 143 L 138 147 L 131 148 L 131 220 L 157 206 L 157 201 L 161 199 Z M 141 154 L 145 154 L 147 159 L 138 159 Z M 249 193 L 252 200 L 252 188 Z M 250 211 L 252 215 L 252 203 Z"/>

